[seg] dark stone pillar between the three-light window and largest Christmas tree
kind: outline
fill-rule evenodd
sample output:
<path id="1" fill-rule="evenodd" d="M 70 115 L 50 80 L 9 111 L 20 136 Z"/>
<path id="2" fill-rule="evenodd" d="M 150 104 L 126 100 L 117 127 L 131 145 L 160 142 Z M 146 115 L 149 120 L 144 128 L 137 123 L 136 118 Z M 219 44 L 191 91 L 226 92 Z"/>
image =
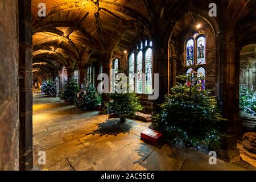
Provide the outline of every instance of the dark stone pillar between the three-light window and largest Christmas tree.
<path id="1" fill-rule="evenodd" d="M 169 71 L 168 71 L 168 54 L 167 50 L 163 51 L 162 48 L 154 49 L 154 73 L 159 74 L 159 97 L 154 102 L 154 113 L 160 111 L 160 104 L 164 101 L 164 96 L 168 93 L 169 89 Z M 154 80 L 155 82 L 156 80 Z"/>

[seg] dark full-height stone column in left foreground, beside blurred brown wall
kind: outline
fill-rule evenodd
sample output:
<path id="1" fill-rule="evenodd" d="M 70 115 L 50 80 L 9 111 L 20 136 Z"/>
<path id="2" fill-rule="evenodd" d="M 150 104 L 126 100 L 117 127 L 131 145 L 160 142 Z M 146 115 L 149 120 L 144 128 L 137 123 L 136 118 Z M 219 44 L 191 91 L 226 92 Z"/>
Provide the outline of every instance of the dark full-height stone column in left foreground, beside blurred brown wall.
<path id="1" fill-rule="evenodd" d="M 19 169 L 31 170 L 32 152 L 32 15 L 31 0 L 19 7 Z"/>

